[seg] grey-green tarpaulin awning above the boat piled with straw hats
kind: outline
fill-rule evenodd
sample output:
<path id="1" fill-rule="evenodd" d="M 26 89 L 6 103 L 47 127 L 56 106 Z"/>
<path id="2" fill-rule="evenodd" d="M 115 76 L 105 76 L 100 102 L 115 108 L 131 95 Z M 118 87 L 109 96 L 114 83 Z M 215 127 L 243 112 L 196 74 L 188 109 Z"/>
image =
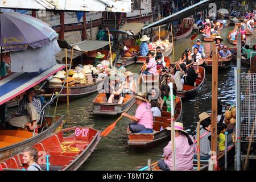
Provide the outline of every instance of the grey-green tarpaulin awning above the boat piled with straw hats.
<path id="1" fill-rule="evenodd" d="M 109 44 L 108 41 L 101 40 L 84 40 L 76 44 L 69 44 L 66 40 L 57 40 L 57 42 L 60 48 L 72 49 L 73 46 L 76 51 L 81 52 L 94 51 L 102 47 L 105 47 Z"/>

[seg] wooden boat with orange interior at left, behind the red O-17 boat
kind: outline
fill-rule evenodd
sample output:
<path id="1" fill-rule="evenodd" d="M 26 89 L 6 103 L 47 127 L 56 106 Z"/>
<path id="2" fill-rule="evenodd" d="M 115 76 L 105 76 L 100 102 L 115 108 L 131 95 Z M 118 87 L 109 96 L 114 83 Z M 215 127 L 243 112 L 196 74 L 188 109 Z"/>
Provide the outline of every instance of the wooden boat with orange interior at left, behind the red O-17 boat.
<path id="1" fill-rule="evenodd" d="M 63 126 L 63 116 L 47 117 L 39 128 L 38 134 L 20 130 L 0 130 L 0 161 L 10 158 L 24 148 L 30 147 L 36 142 L 49 137 Z"/>

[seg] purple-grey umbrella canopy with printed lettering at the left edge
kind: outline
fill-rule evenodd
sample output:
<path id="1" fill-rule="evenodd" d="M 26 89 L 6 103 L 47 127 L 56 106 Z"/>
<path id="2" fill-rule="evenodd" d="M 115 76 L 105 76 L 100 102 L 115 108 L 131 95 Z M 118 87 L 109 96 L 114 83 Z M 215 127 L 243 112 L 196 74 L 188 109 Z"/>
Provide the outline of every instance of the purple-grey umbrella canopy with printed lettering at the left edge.
<path id="1" fill-rule="evenodd" d="M 0 13 L 0 46 L 6 51 L 20 51 L 28 46 L 48 46 L 58 34 L 48 24 L 28 15 Z"/>

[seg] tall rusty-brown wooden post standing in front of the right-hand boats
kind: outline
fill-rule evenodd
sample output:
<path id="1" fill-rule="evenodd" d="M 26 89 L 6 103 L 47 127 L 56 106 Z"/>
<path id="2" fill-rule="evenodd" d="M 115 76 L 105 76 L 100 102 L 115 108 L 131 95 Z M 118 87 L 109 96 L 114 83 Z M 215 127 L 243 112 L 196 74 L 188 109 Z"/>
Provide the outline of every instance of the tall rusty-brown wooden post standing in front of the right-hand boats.
<path id="1" fill-rule="evenodd" d="M 212 61 L 212 152 L 217 155 L 217 102 L 218 102 L 218 49 L 215 44 L 213 47 Z M 216 159 L 217 162 L 217 159 Z M 214 165 L 216 170 L 216 165 Z"/>

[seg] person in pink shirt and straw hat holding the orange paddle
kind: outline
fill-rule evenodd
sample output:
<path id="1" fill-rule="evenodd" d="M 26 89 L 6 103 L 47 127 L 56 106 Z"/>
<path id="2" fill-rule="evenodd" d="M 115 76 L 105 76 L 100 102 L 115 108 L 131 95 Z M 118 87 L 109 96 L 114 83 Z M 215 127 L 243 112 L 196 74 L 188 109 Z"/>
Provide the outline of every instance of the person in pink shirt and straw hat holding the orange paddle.
<path id="1" fill-rule="evenodd" d="M 129 123 L 129 130 L 131 133 L 139 133 L 145 131 L 145 133 L 151 133 L 153 131 L 153 114 L 151 111 L 151 105 L 146 100 L 145 93 L 137 93 L 136 104 L 138 105 L 135 115 L 122 113 L 123 116 L 131 119 L 133 122 Z"/>

